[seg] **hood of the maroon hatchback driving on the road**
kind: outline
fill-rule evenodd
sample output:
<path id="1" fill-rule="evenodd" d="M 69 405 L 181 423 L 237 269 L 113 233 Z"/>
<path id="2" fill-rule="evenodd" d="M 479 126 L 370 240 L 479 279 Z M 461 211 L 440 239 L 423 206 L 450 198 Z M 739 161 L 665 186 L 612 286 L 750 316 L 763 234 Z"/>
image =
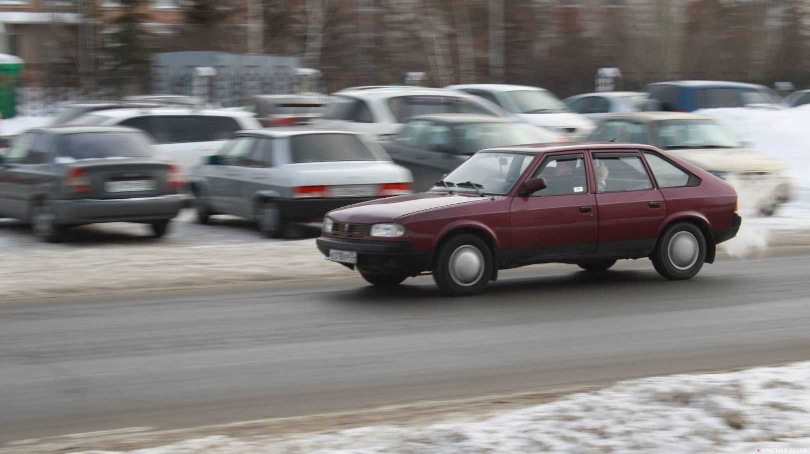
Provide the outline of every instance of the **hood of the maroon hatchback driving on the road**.
<path id="1" fill-rule="evenodd" d="M 346 206 L 330 211 L 329 217 L 341 223 L 389 223 L 419 211 L 488 199 L 489 197 L 479 197 L 476 193 L 416 193 Z"/>

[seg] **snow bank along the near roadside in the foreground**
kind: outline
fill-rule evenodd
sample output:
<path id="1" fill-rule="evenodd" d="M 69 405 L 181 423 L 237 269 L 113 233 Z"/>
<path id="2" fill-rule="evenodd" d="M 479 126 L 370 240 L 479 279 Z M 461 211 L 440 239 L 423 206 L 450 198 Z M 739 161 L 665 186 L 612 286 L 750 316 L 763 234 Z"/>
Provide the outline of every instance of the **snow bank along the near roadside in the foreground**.
<path id="1" fill-rule="evenodd" d="M 630 380 L 483 421 L 210 436 L 130 454 L 810 452 L 810 362 Z M 83 454 L 121 454 L 84 452 Z"/>

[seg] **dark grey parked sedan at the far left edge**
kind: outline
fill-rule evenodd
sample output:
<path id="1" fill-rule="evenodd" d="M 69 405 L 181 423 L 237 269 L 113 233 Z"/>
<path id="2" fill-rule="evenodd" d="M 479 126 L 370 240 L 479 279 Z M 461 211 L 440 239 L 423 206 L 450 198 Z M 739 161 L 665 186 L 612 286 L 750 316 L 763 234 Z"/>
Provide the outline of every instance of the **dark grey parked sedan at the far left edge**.
<path id="1" fill-rule="evenodd" d="M 181 208 L 180 168 L 152 157 L 138 129 L 52 126 L 22 134 L 0 159 L 0 215 L 46 241 L 66 227 L 147 223 L 166 233 Z"/>

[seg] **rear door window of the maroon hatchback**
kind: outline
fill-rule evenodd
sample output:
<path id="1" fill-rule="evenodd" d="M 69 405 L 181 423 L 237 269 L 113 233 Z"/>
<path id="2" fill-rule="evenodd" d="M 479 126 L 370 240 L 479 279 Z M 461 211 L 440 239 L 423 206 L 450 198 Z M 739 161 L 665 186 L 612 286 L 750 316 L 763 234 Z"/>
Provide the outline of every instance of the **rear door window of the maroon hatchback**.
<path id="1" fill-rule="evenodd" d="M 594 170 L 600 193 L 652 189 L 641 156 L 637 153 L 595 153 Z"/>

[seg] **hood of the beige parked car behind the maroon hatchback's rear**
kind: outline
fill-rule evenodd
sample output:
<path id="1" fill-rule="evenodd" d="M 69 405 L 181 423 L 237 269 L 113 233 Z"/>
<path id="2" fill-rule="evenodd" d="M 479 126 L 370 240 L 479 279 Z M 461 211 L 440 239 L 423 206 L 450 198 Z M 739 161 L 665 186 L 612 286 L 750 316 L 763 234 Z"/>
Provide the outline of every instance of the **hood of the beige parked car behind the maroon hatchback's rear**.
<path id="1" fill-rule="evenodd" d="M 778 160 L 744 148 L 668 150 L 668 153 L 713 172 L 781 172 Z"/>

